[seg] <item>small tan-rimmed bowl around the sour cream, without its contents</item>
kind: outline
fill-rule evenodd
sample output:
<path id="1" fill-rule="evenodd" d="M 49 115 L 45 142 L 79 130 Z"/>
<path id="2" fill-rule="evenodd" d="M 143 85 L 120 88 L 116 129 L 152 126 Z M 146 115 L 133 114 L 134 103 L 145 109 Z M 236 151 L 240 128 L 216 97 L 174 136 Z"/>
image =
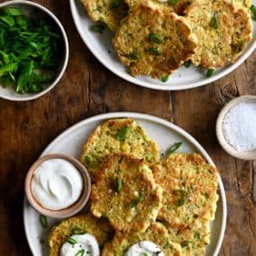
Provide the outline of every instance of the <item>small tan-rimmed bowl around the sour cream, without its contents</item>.
<path id="1" fill-rule="evenodd" d="M 40 166 L 41 163 L 48 161 L 49 159 L 64 159 L 67 162 L 72 163 L 82 175 L 84 189 L 82 191 L 80 198 L 70 207 L 66 207 L 61 210 L 51 210 L 51 209 L 45 208 L 40 204 L 40 202 L 38 202 L 34 198 L 32 194 L 31 181 L 34 177 L 34 172 L 37 170 L 37 168 Z M 86 203 L 90 199 L 91 179 L 84 165 L 80 163 L 78 160 L 76 160 L 74 157 L 66 154 L 47 154 L 43 157 L 40 157 L 35 163 L 32 164 L 25 178 L 24 190 L 25 190 L 26 197 L 31 204 L 31 207 L 33 207 L 41 215 L 50 216 L 54 218 L 65 218 L 68 216 L 75 215 L 85 207 Z"/>

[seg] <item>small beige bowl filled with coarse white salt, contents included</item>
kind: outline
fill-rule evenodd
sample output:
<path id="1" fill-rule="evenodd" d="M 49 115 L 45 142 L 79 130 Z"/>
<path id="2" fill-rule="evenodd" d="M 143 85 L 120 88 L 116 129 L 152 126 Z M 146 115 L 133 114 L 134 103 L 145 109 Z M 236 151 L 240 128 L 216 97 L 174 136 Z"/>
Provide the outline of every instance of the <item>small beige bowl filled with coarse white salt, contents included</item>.
<path id="1" fill-rule="evenodd" d="M 225 105 L 216 119 L 216 137 L 226 153 L 256 159 L 256 96 L 237 97 Z"/>

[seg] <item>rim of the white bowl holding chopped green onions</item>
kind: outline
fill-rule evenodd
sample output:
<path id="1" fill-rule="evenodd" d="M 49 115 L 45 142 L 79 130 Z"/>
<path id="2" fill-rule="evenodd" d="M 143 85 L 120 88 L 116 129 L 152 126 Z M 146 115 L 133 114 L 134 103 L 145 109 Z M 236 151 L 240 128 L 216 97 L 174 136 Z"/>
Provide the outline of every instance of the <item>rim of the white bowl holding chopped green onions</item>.
<path id="1" fill-rule="evenodd" d="M 31 100 L 35 100 L 35 99 L 39 98 L 40 96 L 42 96 L 46 93 L 49 93 L 49 91 L 55 85 L 57 85 L 57 83 L 59 82 L 61 77 L 64 75 L 64 72 L 66 71 L 68 57 L 69 57 L 69 45 L 68 45 L 68 40 L 67 40 L 67 36 L 66 36 L 66 31 L 64 30 L 63 25 L 57 19 L 57 16 L 54 13 L 50 12 L 49 9 L 47 9 L 46 7 L 44 7 L 41 4 L 37 4 L 37 3 L 31 2 L 31 1 L 25 1 L 25 0 L 10 0 L 10 1 L 1 3 L 0 8 L 2 8 L 4 6 L 7 6 L 7 5 L 13 5 L 13 4 L 31 5 L 32 7 L 39 8 L 44 13 L 47 13 L 57 23 L 57 27 L 62 33 L 64 44 L 65 44 L 66 52 L 65 52 L 64 62 L 63 62 L 63 65 L 61 67 L 61 70 L 60 70 L 59 74 L 57 75 L 57 77 L 55 78 L 54 82 L 52 84 L 50 84 L 46 89 L 44 89 L 40 93 L 31 94 L 29 96 L 24 96 L 22 98 L 21 97 L 16 97 L 16 96 L 6 96 L 6 95 L 3 95 L 3 94 L 0 94 L 0 98 L 3 98 L 5 100 L 9 100 L 9 101 L 15 101 L 15 102 L 31 101 Z"/>

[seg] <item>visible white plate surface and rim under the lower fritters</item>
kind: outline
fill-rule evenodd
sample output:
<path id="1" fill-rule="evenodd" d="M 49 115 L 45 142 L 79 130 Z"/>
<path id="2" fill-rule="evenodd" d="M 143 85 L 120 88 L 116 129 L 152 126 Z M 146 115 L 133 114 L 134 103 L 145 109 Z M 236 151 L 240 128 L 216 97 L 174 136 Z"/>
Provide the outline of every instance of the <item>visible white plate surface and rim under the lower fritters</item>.
<path id="1" fill-rule="evenodd" d="M 136 119 L 137 122 L 146 129 L 149 137 L 152 137 L 164 154 L 166 149 L 172 146 L 175 142 L 182 142 L 178 151 L 192 153 L 198 152 L 202 154 L 207 162 L 214 165 L 213 161 L 207 152 L 199 145 L 199 143 L 191 137 L 187 132 L 181 128 L 173 125 L 172 123 L 155 118 L 153 116 L 131 113 L 131 112 L 116 112 L 109 114 L 102 114 L 90 119 L 85 119 L 77 123 L 75 126 L 68 128 L 60 136 L 58 136 L 41 154 L 62 153 L 70 154 L 79 159 L 84 146 L 84 142 L 93 129 L 107 119 L 130 117 Z M 216 256 L 221 247 L 223 236 L 225 233 L 226 221 L 226 202 L 225 190 L 221 178 L 218 181 L 220 199 L 217 203 L 216 218 L 211 225 L 211 239 L 210 244 L 207 246 L 207 256 Z M 56 219 L 49 220 L 48 229 L 42 228 L 40 225 L 40 215 L 29 205 L 27 200 L 24 200 L 23 206 L 23 221 L 25 232 L 31 252 L 35 256 L 47 256 L 47 236 L 49 234 L 50 226 L 57 222 Z"/>

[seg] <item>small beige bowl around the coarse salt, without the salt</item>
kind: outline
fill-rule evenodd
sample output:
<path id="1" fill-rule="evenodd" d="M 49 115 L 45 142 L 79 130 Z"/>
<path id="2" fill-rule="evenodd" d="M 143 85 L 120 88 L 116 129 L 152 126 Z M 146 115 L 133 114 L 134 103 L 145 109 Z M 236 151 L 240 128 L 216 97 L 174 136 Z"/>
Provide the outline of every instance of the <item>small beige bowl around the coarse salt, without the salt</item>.
<path id="1" fill-rule="evenodd" d="M 255 102 L 256 103 L 256 96 L 253 95 L 245 95 L 241 97 L 237 97 L 234 100 L 228 102 L 225 107 L 220 111 L 217 119 L 216 119 L 216 137 L 219 144 L 223 147 L 227 154 L 231 154 L 236 158 L 240 158 L 243 160 L 252 160 L 256 159 L 256 149 L 251 151 L 238 151 L 231 146 L 225 139 L 223 134 L 223 119 L 225 118 L 225 114 L 233 108 L 236 104 L 242 102 Z"/>

